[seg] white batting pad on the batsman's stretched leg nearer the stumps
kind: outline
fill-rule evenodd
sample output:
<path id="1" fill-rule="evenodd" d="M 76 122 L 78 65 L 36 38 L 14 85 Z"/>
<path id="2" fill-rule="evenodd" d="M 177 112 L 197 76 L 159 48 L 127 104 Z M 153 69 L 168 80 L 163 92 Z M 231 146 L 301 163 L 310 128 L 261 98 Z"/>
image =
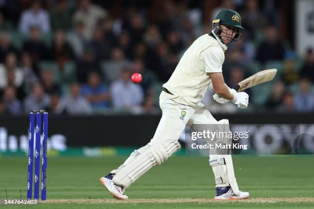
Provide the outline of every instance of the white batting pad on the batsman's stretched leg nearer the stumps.
<path id="1" fill-rule="evenodd" d="M 120 172 L 117 172 L 112 180 L 115 184 L 122 185 L 124 189 L 127 189 L 136 179 L 153 166 L 165 162 L 180 148 L 180 143 L 172 139 L 155 142 L 146 152 L 133 159 Z"/>

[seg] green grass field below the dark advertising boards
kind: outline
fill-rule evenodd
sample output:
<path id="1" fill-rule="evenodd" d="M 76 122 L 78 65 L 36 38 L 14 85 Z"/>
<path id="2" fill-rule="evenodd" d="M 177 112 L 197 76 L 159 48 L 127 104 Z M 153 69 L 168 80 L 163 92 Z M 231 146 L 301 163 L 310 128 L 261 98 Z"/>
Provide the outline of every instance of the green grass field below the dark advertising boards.
<path id="1" fill-rule="evenodd" d="M 48 158 L 47 201 L 35 208 L 314 208 L 314 156 L 233 156 L 241 190 L 250 198 L 214 201 L 205 157 L 172 157 L 136 181 L 119 201 L 99 178 L 125 157 Z M 27 158 L 0 158 L 0 199 L 26 198 Z M 3 200 L 2 200 L 3 203 Z M 21 208 L 11 205 L 8 208 Z M 27 207 L 27 206 L 24 206 Z M 2 206 L 0 205 L 0 208 Z"/>

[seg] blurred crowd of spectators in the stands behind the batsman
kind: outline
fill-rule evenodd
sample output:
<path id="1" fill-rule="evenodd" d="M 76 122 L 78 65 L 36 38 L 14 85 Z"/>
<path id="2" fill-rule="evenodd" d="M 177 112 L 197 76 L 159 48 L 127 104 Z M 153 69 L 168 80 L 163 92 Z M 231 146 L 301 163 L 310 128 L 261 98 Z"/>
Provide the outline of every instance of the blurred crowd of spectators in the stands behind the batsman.
<path id="1" fill-rule="evenodd" d="M 227 85 L 278 69 L 272 82 L 248 91 L 241 111 L 313 111 L 313 51 L 295 52 L 284 2 L 0 0 L 0 115 L 160 114 L 162 84 L 221 9 L 238 11 L 246 29 L 226 52 Z M 133 72 L 143 75 L 140 85 L 130 81 Z M 203 99 L 211 112 L 239 111 L 211 97 Z"/>

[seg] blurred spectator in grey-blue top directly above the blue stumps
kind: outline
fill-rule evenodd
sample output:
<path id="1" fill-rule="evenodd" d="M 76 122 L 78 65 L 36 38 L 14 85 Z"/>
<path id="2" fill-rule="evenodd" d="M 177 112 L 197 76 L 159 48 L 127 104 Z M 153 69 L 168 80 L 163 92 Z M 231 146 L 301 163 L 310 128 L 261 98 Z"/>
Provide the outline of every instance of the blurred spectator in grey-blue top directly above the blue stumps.
<path id="1" fill-rule="evenodd" d="M 47 109 L 50 105 L 50 97 L 44 92 L 40 83 L 34 83 L 32 93 L 24 99 L 24 110 L 29 113 L 32 110 Z"/>

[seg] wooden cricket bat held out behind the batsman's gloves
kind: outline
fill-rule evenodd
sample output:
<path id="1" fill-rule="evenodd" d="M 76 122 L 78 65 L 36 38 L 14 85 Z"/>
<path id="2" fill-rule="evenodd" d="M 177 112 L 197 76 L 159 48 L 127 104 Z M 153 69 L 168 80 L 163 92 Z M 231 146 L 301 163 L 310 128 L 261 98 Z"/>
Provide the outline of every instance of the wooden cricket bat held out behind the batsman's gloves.
<path id="1" fill-rule="evenodd" d="M 268 70 L 260 71 L 242 80 L 241 82 L 238 83 L 237 86 L 232 87 L 232 89 L 234 89 L 237 92 L 241 92 L 253 86 L 259 85 L 263 82 L 272 80 L 274 76 L 276 75 L 276 73 L 277 73 L 277 69 L 268 69 Z"/>

